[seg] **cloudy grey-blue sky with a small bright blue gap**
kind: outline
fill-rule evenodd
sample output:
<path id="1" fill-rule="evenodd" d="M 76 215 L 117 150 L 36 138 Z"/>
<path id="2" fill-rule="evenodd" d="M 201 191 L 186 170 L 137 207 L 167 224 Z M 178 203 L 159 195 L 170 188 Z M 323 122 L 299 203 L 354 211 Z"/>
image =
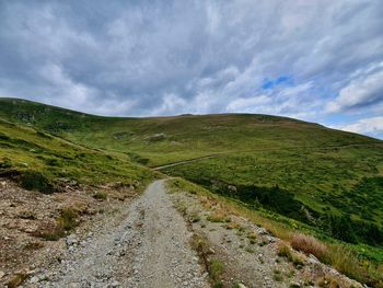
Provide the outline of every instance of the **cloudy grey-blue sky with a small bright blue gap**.
<path id="1" fill-rule="evenodd" d="M 383 1 L 0 0 L 0 96 L 263 113 L 383 138 Z"/>

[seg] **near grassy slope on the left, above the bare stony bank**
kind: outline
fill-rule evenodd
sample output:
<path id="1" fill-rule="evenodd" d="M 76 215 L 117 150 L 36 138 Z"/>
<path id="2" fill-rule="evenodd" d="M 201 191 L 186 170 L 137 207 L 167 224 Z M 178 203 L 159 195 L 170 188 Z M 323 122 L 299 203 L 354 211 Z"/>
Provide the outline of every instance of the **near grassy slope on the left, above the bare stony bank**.
<path id="1" fill-rule="evenodd" d="M 117 158 L 84 148 L 49 134 L 0 119 L 0 174 L 24 178 L 42 176 L 53 186 L 60 182 L 143 186 L 154 173 Z M 38 189 L 38 183 L 33 184 Z M 43 184 L 44 185 L 44 184 Z"/>

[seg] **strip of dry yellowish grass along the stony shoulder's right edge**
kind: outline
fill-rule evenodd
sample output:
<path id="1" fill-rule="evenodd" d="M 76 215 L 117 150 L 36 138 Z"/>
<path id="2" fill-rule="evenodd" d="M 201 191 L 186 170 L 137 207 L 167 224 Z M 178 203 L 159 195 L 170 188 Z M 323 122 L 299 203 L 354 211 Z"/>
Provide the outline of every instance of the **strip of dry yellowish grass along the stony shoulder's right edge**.
<path id="1" fill-rule="evenodd" d="M 252 220 L 259 227 L 265 228 L 275 237 L 285 241 L 290 247 L 311 253 L 321 261 L 330 264 L 339 273 L 372 287 L 383 288 L 383 265 L 375 265 L 372 262 L 361 260 L 358 255 L 341 244 L 321 242 L 311 235 L 297 234 L 292 228 L 264 217 L 259 212 L 248 209 L 243 205 L 227 198 L 213 195 L 210 192 L 188 182 L 185 186 L 194 189 L 199 195 L 202 205 L 207 208 L 219 206 L 228 215 L 235 215 Z M 230 229 L 230 228 L 229 228 Z M 291 243 L 291 245 L 289 244 Z"/>

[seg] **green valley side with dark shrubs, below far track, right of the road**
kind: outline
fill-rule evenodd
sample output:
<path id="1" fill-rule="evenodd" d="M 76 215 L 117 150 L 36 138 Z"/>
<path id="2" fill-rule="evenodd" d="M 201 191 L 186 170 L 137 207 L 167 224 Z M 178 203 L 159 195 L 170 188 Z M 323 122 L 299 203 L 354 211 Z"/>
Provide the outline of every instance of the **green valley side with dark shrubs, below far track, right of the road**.
<path id="1" fill-rule="evenodd" d="M 378 148 L 290 149 L 219 157 L 163 172 L 321 227 L 340 240 L 382 245 L 382 160 Z"/>

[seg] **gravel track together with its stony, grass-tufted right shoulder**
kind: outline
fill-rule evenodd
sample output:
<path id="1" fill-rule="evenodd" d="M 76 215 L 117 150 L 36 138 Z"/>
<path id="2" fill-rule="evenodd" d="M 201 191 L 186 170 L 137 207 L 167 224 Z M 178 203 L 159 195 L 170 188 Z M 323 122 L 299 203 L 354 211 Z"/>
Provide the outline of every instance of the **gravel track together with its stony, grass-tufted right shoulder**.
<path id="1" fill-rule="evenodd" d="M 289 250 L 298 264 L 279 255 L 279 239 L 212 197 L 170 189 L 155 181 L 88 234 L 69 235 L 59 262 L 23 287 L 362 287 L 312 255 Z M 200 260 L 190 246 L 196 237 Z"/>

